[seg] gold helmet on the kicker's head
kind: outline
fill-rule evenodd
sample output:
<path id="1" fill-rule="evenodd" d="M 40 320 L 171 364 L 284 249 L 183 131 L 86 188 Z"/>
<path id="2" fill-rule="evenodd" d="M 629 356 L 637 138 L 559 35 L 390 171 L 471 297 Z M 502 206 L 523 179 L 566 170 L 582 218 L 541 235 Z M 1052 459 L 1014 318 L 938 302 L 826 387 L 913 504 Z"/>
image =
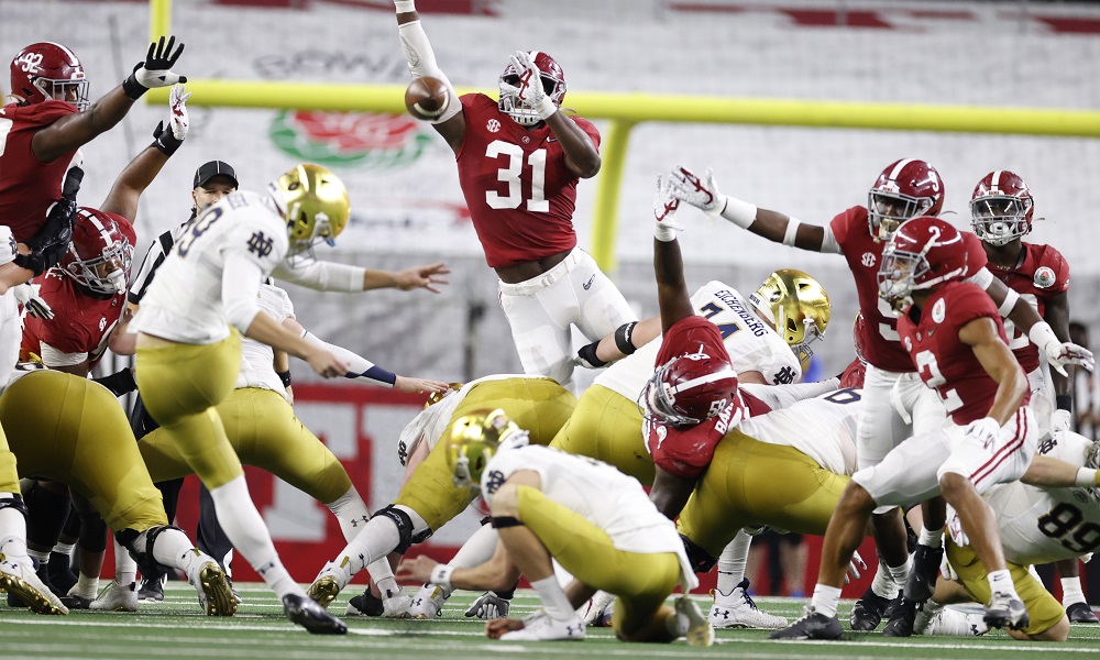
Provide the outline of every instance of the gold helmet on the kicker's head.
<path id="1" fill-rule="evenodd" d="M 309 250 L 318 240 L 334 244 L 351 217 L 348 188 L 320 165 L 300 163 L 268 187 L 286 218 L 290 255 Z"/>

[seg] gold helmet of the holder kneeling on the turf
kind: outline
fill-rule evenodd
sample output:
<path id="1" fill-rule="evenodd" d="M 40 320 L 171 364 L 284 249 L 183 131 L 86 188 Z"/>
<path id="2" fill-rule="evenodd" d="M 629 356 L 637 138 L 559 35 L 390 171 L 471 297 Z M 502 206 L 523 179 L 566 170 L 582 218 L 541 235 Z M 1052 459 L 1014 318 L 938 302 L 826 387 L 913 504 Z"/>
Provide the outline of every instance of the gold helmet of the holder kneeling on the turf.
<path id="1" fill-rule="evenodd" d="M 517 433 L 526 437 L 501 408 L 475 410 L 457 419 L 447 438 L 447 463 L 454 485 L 476 490 L 501 442 Z"/>

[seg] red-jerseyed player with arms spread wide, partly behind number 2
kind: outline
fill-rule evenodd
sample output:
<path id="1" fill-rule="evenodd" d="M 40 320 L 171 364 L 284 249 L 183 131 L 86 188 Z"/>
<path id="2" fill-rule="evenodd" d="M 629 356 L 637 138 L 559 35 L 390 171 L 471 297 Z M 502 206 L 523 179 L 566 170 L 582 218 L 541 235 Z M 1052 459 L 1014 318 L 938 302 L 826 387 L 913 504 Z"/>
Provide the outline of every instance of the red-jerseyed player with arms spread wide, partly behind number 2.
<path id="1" fill-rule="evenodd" d="M 827 226 L 803 223 L 777 211 L 723 195 L 708 170 L 700 177 L 685 167 L 673 170 L 680 199 L 712 217 L 723 217 L 770 241 L 802 250 L 842 254 L 856 282 L 860 315 L 865 320 L 864 346 L 867 380 L 858 435 L 857 457 L 860 468 L 880 462 L 894 447 L 914 433 L 923 433 L 942 424 L 945 413 L 916 375 L 916 369 L 902 348 L 898 319 L 878 296 L 877 274 L 882 250 L 910 218 L 937 216 L 944 204 L 944 183 L 939 173 L 925 161 L 902 158 L 891 163 L 871 186 L 867 205 L 853 207 L 836 216 Z M 968 234 L 969 235 L 969 234 Z M 974 239 L 971 237 L 971 239 Z M 969 240 L 968 240 L 969 241 Z M 972 253 L 966 277 L 986 289 L 998 311 L 1012 319 L 1016 328 L 1046 354 L 1055 369 L 1063 364 L 1090 364 L 1091 353 L 1071 343 L 1063 343 L 1019 294 L 994 278 L 986 265 L 980 241 L 968 242 Z M 897 404 L 894 403 L 897 402 Z M 913 579 L 909 580 L 910 558 L 899 510 L 872 517 L 880 558 L 879 570 L 893 578 L 894 587 L 878 593 L 872 588 L 857 603 L 853 615 L 856 629 L 870 630 L 879 625 L 897 587 L 905 585 L 910 596 L 923 600 L 938 571 L 943 556 L 943 505 L 923 508 L 922 544 L 913 558 Z M 889 581 L 883 581 L 889 584 Z M 881 584 L 877 582 L 876 584 Z M 895 609 L 897 612 L 897 609 Z"/>

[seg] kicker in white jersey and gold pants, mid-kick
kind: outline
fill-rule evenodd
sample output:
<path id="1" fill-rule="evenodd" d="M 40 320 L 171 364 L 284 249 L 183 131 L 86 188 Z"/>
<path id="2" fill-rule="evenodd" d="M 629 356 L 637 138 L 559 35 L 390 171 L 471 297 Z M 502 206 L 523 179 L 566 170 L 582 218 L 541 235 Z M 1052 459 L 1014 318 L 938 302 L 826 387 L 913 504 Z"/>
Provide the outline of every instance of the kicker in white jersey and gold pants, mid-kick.
<path id="1" fill-rule="evenodd" d="M 187 226 L 131 321 L 135 376 L 150 415 L 210 490 L 233 546 L 278 594 L 290 620 L 319 634 L 346 627 L 283 566 L 216 406 L 240 374 L 240 332 L 306 360 L 321 376 L 348 373 L 331 351 L 263 314 L 256 296 L 273 273 L 322 290 L 363 290 L 364 268 L 312 258 L 314 245 L 331 244 L 349 216 L 343 183 L 318 165 L 296 166 L 263 194 L 233 193 Z"/>

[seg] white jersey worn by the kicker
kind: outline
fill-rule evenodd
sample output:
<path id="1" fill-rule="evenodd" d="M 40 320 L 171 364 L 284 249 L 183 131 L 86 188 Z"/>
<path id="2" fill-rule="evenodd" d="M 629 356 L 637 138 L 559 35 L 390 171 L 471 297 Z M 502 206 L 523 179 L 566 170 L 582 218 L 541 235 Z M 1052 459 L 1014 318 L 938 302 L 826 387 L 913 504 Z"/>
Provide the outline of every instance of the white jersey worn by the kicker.
<path id="1" fill-rule="evenodd" d="M 184 228 L 148 286 L 133 324 L 140 332 L 172 341 L 219 342 L 229 337 L 221 295 L 226 253 L 245 255 L 266 277 L 288 249 L 286 221 L 271 196 L 232 193 Z"/>

